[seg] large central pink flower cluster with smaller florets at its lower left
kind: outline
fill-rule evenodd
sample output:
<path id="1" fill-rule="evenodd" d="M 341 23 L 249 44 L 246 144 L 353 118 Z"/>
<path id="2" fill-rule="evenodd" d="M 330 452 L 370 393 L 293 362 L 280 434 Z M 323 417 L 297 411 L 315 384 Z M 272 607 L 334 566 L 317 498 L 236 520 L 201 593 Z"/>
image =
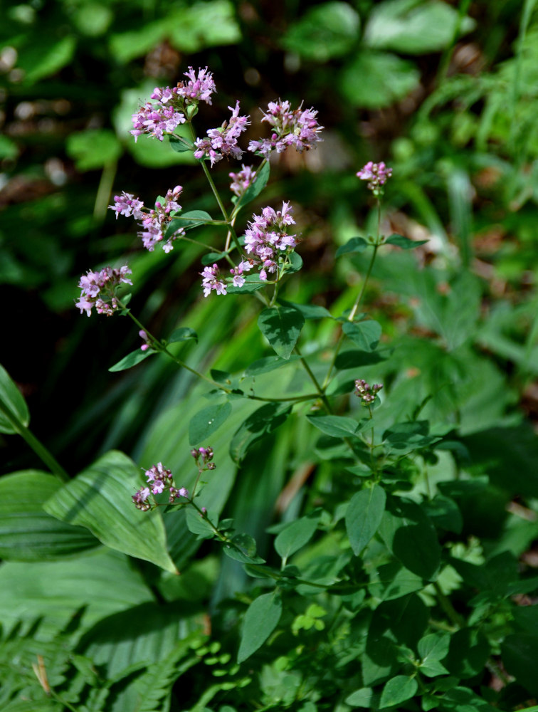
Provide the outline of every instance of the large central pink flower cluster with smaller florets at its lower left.
<path id="1" fill-rule="evenodd" d="M 275 273 L 283 257 L 295 248 L 296 236 L 288 234 L 288 226 L 295 225 L 291 213 L 290 204 L 283 202 L 282 210 L 275 211 L 267 207 L 261 215 L 252 216 L 244 235 L 247 256 L 230 270 L 234 287 L 242 287 L 246 282 L 243 273 L 256 266 L 260 268 L 260 280 L 267 280 L 268 273 Z M 204 297 L 209 296 L 211 290 L 217 294 L 226 294 L 226 282 L 217 264 L 205 267 L 200 274 Z"/>

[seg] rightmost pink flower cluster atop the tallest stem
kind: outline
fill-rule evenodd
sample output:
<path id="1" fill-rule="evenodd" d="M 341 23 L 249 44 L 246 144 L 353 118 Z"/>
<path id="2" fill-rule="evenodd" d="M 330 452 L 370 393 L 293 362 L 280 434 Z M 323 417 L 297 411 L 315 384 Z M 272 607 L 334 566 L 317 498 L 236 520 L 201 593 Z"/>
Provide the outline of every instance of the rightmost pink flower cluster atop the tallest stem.
<path id="1" fill-rule="evenodd" d="M 263 111 L 262 121 L 271 127 L 271 137 L 260 141 L 250 141 L 248 150 L 258 152 L 264 158 L 276 151 L 282 153 L 288 146 L 297 151 L 309 150 L 322 139 L 318 133 L 322 126 L 317 123 L 317 111 L 313 108 L 292 110 L 289 101 L 270 102 L 267 112 Z"/>

